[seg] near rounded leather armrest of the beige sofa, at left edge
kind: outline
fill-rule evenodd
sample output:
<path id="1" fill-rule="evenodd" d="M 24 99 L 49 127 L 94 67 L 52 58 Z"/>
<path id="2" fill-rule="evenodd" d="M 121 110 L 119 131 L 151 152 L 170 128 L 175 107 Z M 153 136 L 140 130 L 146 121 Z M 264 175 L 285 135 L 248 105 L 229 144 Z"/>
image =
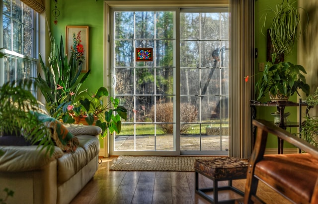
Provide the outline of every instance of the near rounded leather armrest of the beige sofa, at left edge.
<path id="1" fill-rule="evenodd" d="M 55 147 L 50 157 L 45 149 L 40 151 L 36 145 L 0 146 L 0 151 L 4 153 L 0 156 L 0 172 L 39 170 L 63 155 L 63 151 Z"/>

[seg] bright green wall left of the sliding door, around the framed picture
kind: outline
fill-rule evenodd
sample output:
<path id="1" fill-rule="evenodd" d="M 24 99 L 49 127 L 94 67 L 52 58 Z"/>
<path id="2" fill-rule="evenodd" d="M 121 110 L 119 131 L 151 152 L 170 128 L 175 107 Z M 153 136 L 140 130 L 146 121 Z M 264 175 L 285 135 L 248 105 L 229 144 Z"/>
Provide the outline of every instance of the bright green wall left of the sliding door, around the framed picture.
<path id="1" fill-rule="evenodd" d="M 54 8 L 51 0 L 51 10 Z M 59 0 L 57 4 L 60 16 L 58 23 L 54 24 L 55 17 L 51 15 L 50 27 L 52 36 L 60 43 L 63 36 L 65 46 L 65 26 L 88 26 L 88 66 L 91 69 L 90 76 L 82 85 L 88 92 L 95 92 L 103 86 L 103 0 Z"/>

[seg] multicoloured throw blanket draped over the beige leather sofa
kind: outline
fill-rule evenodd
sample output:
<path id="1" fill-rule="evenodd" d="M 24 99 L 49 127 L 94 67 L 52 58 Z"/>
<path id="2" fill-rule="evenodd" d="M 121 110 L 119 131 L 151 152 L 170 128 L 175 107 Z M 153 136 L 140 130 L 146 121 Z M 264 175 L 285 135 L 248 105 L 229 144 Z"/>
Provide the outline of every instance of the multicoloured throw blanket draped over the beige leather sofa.
<path id="1" fill-rule="evenodd" d="M 71 134 L 68 129 L 59 121 L 49 115 L 33 112 L 38 120 L 43 122 L 52 131 L 52 139 L 56 146 L 65 152 L 75 152 L 79 146 L 79 139 Z"/>

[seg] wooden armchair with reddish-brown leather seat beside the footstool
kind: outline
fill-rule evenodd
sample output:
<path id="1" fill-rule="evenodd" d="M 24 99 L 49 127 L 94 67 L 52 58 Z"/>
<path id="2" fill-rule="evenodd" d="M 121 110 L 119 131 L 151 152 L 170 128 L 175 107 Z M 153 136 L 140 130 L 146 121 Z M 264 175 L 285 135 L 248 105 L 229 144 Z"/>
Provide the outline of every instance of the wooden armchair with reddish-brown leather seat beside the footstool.
<path id="1" fill-rule="evenodd" d="M 247 169 L 244 204 L 263 203 L 257 196 L 262 181 L 294 203 L 318 204 L 318 148 L 265 120 L 253 120 L 257 128 Z M 302 149 L 303 154 L 264 155 L 271 133 Z"/>

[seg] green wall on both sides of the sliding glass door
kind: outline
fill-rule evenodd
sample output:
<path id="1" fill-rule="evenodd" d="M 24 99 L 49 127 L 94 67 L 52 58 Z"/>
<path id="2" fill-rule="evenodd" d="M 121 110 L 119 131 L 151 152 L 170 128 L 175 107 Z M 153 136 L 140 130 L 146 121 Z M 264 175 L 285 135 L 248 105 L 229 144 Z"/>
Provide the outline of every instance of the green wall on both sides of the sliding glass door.
<path id="1" fill-rule="evenodd" d="M 255 77 L 258 76 L 258 63 L 266 63 L 266 36 L 261 33 L 263 24 L 263 14 L 268 5 L 275 6 L 277 0 L 256 0 L 255 1 L 255 47 L 258 48 L 258 58 L 255 59 Z M 51 10 L 54 8 L 54 1 L 51 0 Z M 53 23 L 54 17 L 51 15 L 50 27 L 53 37 L 60 41 L 61 35 L 65 42 L 65 26 L 66 25 L 88 25 L 89 26 L 89 48 L 88 48 L 88 64 L 91 69 L 91 74 L 82 87 L 87 88 L 90 92 L 95 91 L 98 87 L 103 86 L 103 0 L 59 0 L 58 9 L 60 16 L 58 16 L 58 24 Z M 266 23 L 269 27 L 269 22 Z M 266 28 L 266 29 L 267 29 Z M 285 56 L 285 61 L 297 63 L 297 45 L 294 52 Z M 290 99 L 296 102 L 297 97 L 293 96 Z M 266 99 L 269 101 L 269 99 Z M 257 117 L 267 120 L 273 120 L 273 116 L 268 114 L 274 112 L 276 108 L 261 107 L 257 108 Z M 290 120 L 297 120 L 296 108 L 286 108 L 286 111 L 292 112 L 289 116 Z M 268 139 L 268 148 L 277 148 L 277 140 L 273 137 Z M 290 147 L 285 145 L 285 147 Z"/>

